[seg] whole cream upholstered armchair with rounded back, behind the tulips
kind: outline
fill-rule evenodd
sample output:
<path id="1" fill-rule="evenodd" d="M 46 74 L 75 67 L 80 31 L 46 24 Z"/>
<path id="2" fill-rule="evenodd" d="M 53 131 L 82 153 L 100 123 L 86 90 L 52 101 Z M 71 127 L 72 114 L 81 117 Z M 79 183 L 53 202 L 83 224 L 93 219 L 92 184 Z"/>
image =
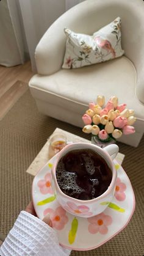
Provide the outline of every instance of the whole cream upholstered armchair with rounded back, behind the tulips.
<path id="1" fill-rule="evenodd" d="M 29 81 L 38 109 L 64 122 L 82 127 L 82 115 L 97 95 L 134 109 L 135 134 L 120 141 L 137 147 L 144 130 L 144 2 L 142 0 L 87 0 L 60 16 L 43 35 L 35 50 L 37 75 Z M 66 36 L 64 27 L 93 34 L 121 17 L 124 56 L 101 64 L 62 69 Z"/>

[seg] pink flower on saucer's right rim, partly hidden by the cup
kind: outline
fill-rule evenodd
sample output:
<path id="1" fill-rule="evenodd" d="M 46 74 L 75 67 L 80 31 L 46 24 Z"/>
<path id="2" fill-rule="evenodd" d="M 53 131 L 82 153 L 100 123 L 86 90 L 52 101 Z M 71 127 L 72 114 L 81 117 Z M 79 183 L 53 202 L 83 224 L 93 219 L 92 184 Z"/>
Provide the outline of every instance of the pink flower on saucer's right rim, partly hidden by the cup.
<path id="1" fill-rule="evenodd" d="M 118 201 L 124 201 L 126 199 L 126 185 L 121 182 L 120 178 L 117 178 L 116 187 L 115 187 L 115 197 Z"/>

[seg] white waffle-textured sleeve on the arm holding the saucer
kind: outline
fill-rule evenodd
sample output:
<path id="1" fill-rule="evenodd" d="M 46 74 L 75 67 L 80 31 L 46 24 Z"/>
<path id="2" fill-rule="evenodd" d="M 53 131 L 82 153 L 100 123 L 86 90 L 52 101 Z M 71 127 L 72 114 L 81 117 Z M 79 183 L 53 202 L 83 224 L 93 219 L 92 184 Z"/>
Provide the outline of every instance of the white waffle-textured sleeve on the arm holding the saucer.
<path id="1" fill-rule="evenodd" d="M 1 256 L 68 256 L 70 252 L 59 245 L 54 229 L 26 211 L 21 211 L 0 248 Z"/>

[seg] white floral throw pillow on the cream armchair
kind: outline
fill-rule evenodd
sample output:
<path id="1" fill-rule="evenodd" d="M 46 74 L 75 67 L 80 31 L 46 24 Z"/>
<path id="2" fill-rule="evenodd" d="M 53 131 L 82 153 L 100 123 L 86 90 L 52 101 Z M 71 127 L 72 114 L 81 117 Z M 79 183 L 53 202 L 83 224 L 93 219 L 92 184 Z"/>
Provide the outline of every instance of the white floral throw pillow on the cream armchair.
<path id="1" fill-rule="evenodd" d="M 121 19 L 118 17 L 93 35 L 65 28 L 67 42 L 62 68 L 81 68 L 123 55 L 120 26 Z"/>

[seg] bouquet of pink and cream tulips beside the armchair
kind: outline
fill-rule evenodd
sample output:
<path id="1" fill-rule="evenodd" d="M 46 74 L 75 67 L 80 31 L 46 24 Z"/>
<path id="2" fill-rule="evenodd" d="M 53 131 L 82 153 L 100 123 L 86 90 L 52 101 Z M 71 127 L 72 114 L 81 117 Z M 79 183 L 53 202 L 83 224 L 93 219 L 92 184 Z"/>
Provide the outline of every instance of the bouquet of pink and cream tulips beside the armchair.
<path id="1" fill-rule="evenodd" d="M 118 98 L 113 96 L 105 105 L 104 96 L 98 96 L 96 104 L 89 103 L 89 108 L 82 116 L 85 123 L 82 131 L 92 133 L 99 141 L 109 142 L 118 139 L 122 134 L 135 133 L 132 126 L 136 120 L 134 110 L 127 109 L 126 104 L 118 104 Z"/>

